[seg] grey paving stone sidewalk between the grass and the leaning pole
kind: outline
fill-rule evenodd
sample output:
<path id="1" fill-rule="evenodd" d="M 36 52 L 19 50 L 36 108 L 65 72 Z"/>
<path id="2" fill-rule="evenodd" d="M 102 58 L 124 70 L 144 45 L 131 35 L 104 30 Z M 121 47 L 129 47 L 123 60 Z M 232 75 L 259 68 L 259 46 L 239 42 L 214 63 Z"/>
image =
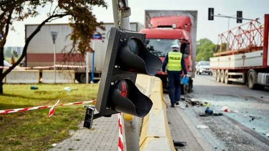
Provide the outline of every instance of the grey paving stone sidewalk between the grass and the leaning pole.
<path id="1" fill-rule="evenodd" d="M 110 118 L 95 119 L 92 130 L 83 128 L 82 122 L 79 130 L 71 132 L 70 138 L 48 151 L 118 151 L 118 141 L 118 115 L 115 114 Z"/>

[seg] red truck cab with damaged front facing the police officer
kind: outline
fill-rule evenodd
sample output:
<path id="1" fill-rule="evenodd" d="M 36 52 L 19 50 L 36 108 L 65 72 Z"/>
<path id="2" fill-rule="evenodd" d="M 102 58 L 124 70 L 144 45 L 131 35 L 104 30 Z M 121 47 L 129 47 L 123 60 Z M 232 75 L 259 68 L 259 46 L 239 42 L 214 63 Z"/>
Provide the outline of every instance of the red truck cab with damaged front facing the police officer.
<path id="1" fill-rule="evenodd" d="M 183 54 L 187 72 L 192 72 L 192 48 L 191 48 L 191 19 L 189 16 L 157 16 L 150 19 L 149 28 L 140 32 L 146 34 L 145 46 L 154 55 L 163 61 L 165 55 L 171 51 L 172 45 L 179 45 Z M 186 74 L 186 73 L 185 73 Z M 163 87 L 167 83 L 167 75 L 158 72 L 156 75 L 162 79 Z M 188 85 L 182 86 L 181 93 L 191 91 L 192 79 Z"/>

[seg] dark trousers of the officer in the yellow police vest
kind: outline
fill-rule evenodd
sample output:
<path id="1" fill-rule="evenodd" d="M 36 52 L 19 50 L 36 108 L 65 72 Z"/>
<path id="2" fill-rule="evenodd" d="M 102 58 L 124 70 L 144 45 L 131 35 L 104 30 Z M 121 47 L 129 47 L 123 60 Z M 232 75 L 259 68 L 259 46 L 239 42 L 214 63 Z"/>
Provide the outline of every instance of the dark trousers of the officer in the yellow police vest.
<path id="1" fill-rule="evenodd" d="M 180 74 L 168 74 L 169 97 L 171 104 L 180 99 Z"/>

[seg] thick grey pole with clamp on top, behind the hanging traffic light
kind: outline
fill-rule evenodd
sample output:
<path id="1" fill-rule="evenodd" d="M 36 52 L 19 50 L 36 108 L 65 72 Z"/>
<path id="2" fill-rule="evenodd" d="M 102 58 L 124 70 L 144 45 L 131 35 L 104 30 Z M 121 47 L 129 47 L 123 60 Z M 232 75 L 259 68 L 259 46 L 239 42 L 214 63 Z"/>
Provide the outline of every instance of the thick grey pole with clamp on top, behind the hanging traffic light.
<path id="1" fill-rule="evenodd" d="M 112 7 L 114 27 L 130 30 L 129 16 L 131 15 L 131 9 L 128 7 L 128 0 L 112 0 Z M 139 151 L 139 136 L 136 117 L 124 113 L 124 130 L 127 151 Z"/>

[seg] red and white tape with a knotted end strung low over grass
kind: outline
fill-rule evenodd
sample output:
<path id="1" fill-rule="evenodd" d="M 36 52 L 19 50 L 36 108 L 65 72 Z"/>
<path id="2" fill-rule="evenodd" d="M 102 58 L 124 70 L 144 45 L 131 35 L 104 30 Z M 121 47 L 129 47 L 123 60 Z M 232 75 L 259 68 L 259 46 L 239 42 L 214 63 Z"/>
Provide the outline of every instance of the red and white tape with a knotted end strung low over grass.
<path id="1" fill-rule="evenodd" d="M 36 109 L 42 109 L 42 108 L 50 108 L 48 116 L 51 117 L 55 111 L 56 106 L 65 106 L 65 105 L 76 105 L 76 104 L 85 104 L 85 103 L 93 103 L 96 102 L 96 100 L 92 101 L 81 101 L 81 102 L 73 102 L 73 103 L 65 103 L 65 104 L 58 104 L 59 100 L 54 105 L 49 106 L 35 106 L 35 107 L 26 107 L 26 108 L 17 108 L 17 109 L 7 109 L 7 110 L 0 110 L 0 114 L 6 114 L 6 113 L 14 113 L 14 112 L 20 112 L 20 111 L 29 111 L 29 110 L 36 110 Z"/>

